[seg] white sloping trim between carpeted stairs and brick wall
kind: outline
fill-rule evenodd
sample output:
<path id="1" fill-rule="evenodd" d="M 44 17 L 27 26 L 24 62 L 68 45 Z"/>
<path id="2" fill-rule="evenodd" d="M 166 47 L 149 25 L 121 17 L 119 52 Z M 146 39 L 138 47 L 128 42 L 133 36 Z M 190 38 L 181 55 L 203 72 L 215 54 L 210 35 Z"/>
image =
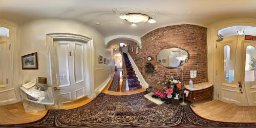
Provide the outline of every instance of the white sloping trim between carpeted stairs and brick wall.
<path id="1" fill-rule="evenodd" d="M 135 71 L 136 76 L 138 77 L 138 80 L 140 81 L 141 86 L 142 86 L 143 88 L 145 88 L 145 89 L 148 88 L 148 83 L 145 81 L 145 79 L 144 79 L 143 76 L 141 75 L 140 70 L 139 70 L 138 67 L 136 66 L 136 63 L 133 61 L 132 56 L 131 56 L 129 53 L 127 53 L 127 55 L 128 55 L 128 57 L 129 57 L 129 59 L 130 59 L 130 61 L 131 61 L 131 64 L 132 64 L 132 66 L 133 66 L 133 69 L 134 69 L 134 71 Z"/>

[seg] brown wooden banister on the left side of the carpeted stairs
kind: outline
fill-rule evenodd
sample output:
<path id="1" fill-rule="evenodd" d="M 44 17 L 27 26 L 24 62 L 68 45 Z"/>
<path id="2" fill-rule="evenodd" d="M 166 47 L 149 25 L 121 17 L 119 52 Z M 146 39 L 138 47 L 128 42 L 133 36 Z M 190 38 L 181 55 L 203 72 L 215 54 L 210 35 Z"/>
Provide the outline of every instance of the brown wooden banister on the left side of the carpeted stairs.
<path id="1" fill-rule="evenodd" d="M 121 91 L 125 92 L 126 91 L 126 80 L 127 80 L 127 71 L 126 71 L 126 65 L 125 65 L 125 61 L 124 61 L 124 57 L 123 57 L 123 51 L 122 48 L 119 48 L 119 51 L 122 55 L 122 88 Z"/>

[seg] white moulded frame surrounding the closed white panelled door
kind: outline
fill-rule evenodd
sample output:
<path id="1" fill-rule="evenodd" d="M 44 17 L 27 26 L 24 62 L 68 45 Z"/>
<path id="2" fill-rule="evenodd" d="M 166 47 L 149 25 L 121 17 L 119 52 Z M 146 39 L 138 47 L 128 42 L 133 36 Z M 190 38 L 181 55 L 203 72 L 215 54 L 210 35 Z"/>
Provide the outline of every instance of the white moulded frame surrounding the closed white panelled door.
<path id="1" fill-rule="evenodd" d="M 82 41 L 86 42 L 87 44 L 87 63 L 86 68 L 89 69 L 88 72 L 86 72 L 86 95 L 89 98 L 93 97 L 94 92 L 94 47 L 93 47 L 93 39 L 83 36 L 83 35 L 77 35 L 77 34 L 71 34 L 71 33 L 51 33 L 46 35 L 46 46 L 48 51 L 48 60 L 49 60 L 49 72 L 50 72 L 50 86 L 53 87 L 54 83 L 56 83 L 56 75 L 52 74 L 55 71 L 55 60 L 53 59 L 54 56 L 51 53 L 54 53 L 54 41 L 58 39 L 72 39 L 76 41 Z"/>

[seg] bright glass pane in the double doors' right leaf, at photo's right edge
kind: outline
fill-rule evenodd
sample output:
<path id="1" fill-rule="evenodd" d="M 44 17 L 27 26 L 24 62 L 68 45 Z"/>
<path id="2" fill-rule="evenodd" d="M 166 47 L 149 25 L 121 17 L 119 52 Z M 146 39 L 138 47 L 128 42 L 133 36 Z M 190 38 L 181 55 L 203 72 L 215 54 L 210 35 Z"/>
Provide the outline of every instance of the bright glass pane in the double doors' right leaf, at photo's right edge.
<path id="1" fill-rule="evenodd" d="M 244 81 L 255 81 L 255 48 L 253 46 L 246 47 L 245 56 L 245 78 Z"/>

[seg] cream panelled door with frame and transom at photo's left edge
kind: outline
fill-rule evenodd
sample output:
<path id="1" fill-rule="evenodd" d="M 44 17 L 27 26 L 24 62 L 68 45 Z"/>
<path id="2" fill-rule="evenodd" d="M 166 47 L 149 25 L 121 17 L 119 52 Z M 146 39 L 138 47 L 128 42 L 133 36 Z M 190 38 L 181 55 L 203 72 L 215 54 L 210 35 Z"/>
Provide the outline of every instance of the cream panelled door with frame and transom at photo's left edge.
<path id="1" fill-rule="evenodd" d="M 13 25 L 0 21 L 0 105 L 20 101 L 18 88 L 15 88 L 13 72 L 15 31 Z"/>

